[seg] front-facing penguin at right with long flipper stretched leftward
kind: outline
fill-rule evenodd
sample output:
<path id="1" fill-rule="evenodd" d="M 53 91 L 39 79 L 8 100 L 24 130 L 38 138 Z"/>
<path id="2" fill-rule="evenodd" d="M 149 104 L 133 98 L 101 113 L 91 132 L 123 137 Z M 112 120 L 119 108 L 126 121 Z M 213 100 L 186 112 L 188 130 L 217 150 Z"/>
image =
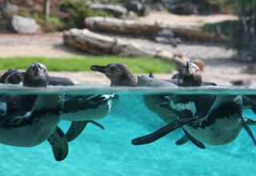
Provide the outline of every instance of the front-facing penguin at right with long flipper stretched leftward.
<path id="1" fill-rule="evenodd" d="M 187 75 L 188 66 L 183 66 L 184 72 L 179 74 L 178 84 L 182 86 L 200 86 L 202 79 L 195 79 Z M 192 68 L 192 67 L 191 67 Z M 187 73 L 186 73 L 187 72 Z M 187 81 L 188 80 L 188 81 Z M 190 82 L 195 80 L 195 82 Z M 176 130 L 179 127 L 184 129 L 187 137 L 194 138 L 203 145 L 202 142 L 210 145 L 223 145 L 232 142 L 239 134 L 242 127 L 256 141 L 254 134 L 250 130 L 250 125 L 256 122 L 250 118 L 242 117 L 242 96 L 240 95 L 213 95 L 213 94 L 175 94 L 170 96 L 166 108 L 174 110 L 178 119 L 170 122 L 153 134 L 135 138 L 134 145 L 142 145 L 154 142 L 158 138 Z M 164 106 L 162 104 L 162 106 Z"/>

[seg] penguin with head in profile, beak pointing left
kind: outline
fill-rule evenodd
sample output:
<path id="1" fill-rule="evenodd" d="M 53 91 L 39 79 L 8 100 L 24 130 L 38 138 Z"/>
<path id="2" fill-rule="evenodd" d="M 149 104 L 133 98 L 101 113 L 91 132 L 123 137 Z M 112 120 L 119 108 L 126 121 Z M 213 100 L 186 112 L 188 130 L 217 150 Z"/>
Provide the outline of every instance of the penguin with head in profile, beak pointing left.
<path id="1" fill-rule="evenodd" d="M 171 82 L 166 82 L 163 80 L 158 80 L 146 76 L 141 76 L 136 78 L 134 74 L 130 71 L 130 69 L 121 64 L 121 63 L 111 63 L 106 66 L 90 66 L 91 70 L 99 71 L 106 75 L 107 78 L 110 79 L 111 84 L 110 86 L 150 86 L 150 87 L 177 87 Z M 175 120 L 175 114 L 173 110 L 170 110 L 169 108 L 160 107 L 159 105 L 166 102 L 165 99 L 166 94 L 146 94 L 143 96 L 144 103 L 146 107 L 154 112 L 155 114 L 158 114 L 160 118 L 166 123 L 169 123 L 173 120 Z M 204 146 L 197 142 L 194 138 L 186 138 L 182 137 L 178 140 L 177 144 L 183 144 L 187 141 L 191 140 L 194 142 L 197 146 L 203 148 Z"/>

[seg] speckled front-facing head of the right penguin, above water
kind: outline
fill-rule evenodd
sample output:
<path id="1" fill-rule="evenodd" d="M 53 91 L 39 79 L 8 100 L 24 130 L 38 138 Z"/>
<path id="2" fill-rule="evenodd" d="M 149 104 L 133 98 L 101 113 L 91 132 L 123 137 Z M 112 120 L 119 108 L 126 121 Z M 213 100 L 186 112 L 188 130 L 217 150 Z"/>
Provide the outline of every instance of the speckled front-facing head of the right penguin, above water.
<path id="1" fill-rule="evenodd" d="M 178 86 L 201 86 L 202 74 L 197 65 L 186 62 L 178 74 Z"/>

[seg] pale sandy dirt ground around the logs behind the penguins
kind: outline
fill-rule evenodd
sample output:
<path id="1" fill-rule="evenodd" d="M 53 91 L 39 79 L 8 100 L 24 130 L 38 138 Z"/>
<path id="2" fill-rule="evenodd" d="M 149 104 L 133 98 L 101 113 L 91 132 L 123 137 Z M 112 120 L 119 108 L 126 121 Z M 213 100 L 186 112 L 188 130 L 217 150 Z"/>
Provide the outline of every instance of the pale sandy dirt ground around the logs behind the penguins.
<path id="1" fill-rule="evenodd" d="M 232 15 L 211 16 L 178 16 L 166 13 L 151 13 L 142 20 L 158 20 L 162 22 L 219 22 L 226 19 L 235 19 Z M 235 62 L 230 59 L 234 56 L 234 50 L 226 50 L 222 46 L 212 43 L 182 42 L 178 47 L 152 42 L 149 38 L 131 38 L 119 36 L 131 42 L 150 47 L 159 47 L 162 50 L 170 50 L 174 54 L 184 54 L 194 60 L 204 63 L 203 79 L 216 82 L 218 85 L 230 86 L 232 81 L 242 80 L 246 85 L 256 85 L 256 76 L 246 74 L 247 62 Z M 74 50 L 63 44 L 62 33 L 50 34 L 0 34 L 0 57 L 15 56 L 42 56 L 54 58 L 81 57 L 85 55 L 81 51 Z M 0 74 L 3 72 L 0 71 Z M 146 73 L 147 74 L 147 73 Z M 170 74 L 155 74 L 156 78 L 170 78 Z M 50 72 L 52 76 L 73 78 L 82 84 L 109 85 L 109 80 L 100 73 L 94 72 Z"/>

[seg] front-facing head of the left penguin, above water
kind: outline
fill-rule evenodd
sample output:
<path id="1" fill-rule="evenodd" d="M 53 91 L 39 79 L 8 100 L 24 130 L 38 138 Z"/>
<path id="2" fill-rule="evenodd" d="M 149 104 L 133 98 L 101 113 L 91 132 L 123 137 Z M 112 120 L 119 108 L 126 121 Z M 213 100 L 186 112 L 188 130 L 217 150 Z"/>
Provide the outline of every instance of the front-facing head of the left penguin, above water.
<path id="1" fill-rule="evenodd" d="M 24 74 L 23 86 L 46 87 L 49 82 L 49 75 L 46 66 L 41 63 L 32 63 Z"/>

